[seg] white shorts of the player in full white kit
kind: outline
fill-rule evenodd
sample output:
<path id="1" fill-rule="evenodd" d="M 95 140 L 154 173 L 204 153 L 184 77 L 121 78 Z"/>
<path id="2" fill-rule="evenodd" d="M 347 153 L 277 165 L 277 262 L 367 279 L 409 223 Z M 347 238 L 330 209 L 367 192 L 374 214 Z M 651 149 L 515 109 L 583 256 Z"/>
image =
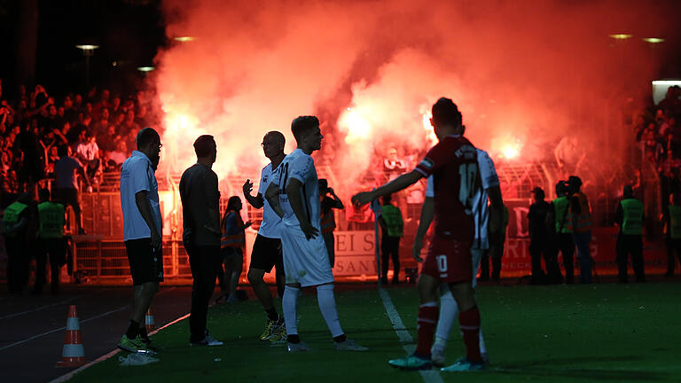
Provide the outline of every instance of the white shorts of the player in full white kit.
<path id="1" fill-rule="evenodd" d="M 286 284 L 301 287 L 333 282 L 333 272 L 321 234 L 309 240 L 300 228 L 281 225 L 281 247 L 284 253 Z"/>

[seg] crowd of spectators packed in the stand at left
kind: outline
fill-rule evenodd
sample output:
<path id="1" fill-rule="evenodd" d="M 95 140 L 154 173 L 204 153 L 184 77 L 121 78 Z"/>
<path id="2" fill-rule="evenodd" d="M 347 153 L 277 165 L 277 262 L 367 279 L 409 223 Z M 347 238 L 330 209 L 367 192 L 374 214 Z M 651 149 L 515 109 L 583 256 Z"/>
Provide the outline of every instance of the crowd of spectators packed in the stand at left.
<path id="1" fill-rule="evenodd" d="M 152 123 L 143 93 L 130 97 L 93 88 L 87 94 L 55 96 L 42 85 L 21 86 L 6 98 L 0 81 L 0 192 L 2 205 L 36 186 L 50 187 L 55 163 L 71 152 L 87 180 L 97 185 L 136 147 L 137 131 Z"/>

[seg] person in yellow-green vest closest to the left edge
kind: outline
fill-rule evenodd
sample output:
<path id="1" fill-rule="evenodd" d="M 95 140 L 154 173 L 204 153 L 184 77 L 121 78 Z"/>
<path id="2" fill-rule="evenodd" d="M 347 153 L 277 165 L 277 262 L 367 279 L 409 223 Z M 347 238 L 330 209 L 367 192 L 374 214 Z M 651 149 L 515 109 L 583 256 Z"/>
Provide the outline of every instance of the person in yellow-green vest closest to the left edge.
<path id="1" fill-rule="evenodd" d="M 31 259 L 26 254 L 26 233 L 31 219 L 30 202 L 28 194 L 23 193 L 4 209 L 2 231 L 7 252 L 7 291 L 10 294 L 22 293 L 28 281 Z"/>

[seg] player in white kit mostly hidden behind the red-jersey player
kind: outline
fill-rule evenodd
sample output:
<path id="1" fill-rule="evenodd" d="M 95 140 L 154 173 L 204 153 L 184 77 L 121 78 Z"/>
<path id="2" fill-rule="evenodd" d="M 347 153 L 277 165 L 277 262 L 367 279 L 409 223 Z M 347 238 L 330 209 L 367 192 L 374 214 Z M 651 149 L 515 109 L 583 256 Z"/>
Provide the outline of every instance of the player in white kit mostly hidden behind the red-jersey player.
<path id="1" fill-rule="evenodd" d="M 501 212 L 501 206 L 503 205 L 503 201 L 501 199 L 501 189 L 499 188 L 499 178 L 497 176 L 497 170 L 494 168 L 494 162 L 489 158 L 487 152 L 481 149 L 476 150 L 478 152 L 478 168 L 480 170 L 482 187 L 478 189 L 474 196 L 472 209 L 475 226 L 475 237 L 473 246 L 471 246 L 471 254 L 473 256 L 474 287 L 476 285 L 475 276 L 478 273 L 481 258 L 484 253 L 489 250 L 489 238 L 492 237 L 493 240 L 497 240 L 498 237 L 498 229 L 496 229 L 496 231 L 492 231 L 492 235 L 489 235 L 488 198 L 492 208 L 497 208 L 499 212 Z M 416 238 L 414 239 L 414 246 L 412 247 L 413 255 L 417 259 L 419 259 L 418 256 L 421 252 L 421 247 L 423 246 L 423 237 L 426 235 L 428 226 L 430 226 L 430 223 L 433 221 L 433 186 L 433 176 L 429 176 L 426 189 L 426 199 L 424 200 L 421 210 L 419 230 L 417 231 Z M 499 223 L 495 223 L 495 225 L 496 226 L 492 227 L 500 228 Z M 444 365 L 444 349 L 447 344 L 447 340 L 449 339 L 451 327 L 454 324 L 457 315 L 457 301 L 454 300 L 449 286 L 446 284 L 440 285 L 440 317 L 437 321 L 437 330 L 435 331 L 435 341 L 433 348 L 431 348 L 431 360 L 433 361 L 434 365 Z M 483 359 L 488 361 L 489 358 L 487 355 L 487 349 L 485 348 L 485 342 L 482 337 L 482 330 L 480 331 L 480 351 Z M 447 371 L 447 367 L 445 367 L 443 371 Z"/>

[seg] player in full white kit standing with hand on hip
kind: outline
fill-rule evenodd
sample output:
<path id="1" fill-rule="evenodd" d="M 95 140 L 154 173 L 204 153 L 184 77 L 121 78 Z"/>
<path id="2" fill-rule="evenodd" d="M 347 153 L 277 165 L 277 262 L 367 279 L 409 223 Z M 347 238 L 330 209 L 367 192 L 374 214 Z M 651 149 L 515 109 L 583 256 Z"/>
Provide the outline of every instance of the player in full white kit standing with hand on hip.
<path id="1" fill-rule="evenodd" d="M 301 116 L 291 124 L 298 148 L 286 156 L 265 193 L 270 206 L 282 217 L 286 289 L 282 309 L 286 320 L 286 349 L 306 351 L 298 335 L 298 298 L 301 287 L 317 287 L 317 301 L 336 349 L 364 351 L 340 328 L 333 297 L 333 273 L 320 231 L 317 169 L 310 154 L 321 148 L 322 133 L 315 116 Z"/>

